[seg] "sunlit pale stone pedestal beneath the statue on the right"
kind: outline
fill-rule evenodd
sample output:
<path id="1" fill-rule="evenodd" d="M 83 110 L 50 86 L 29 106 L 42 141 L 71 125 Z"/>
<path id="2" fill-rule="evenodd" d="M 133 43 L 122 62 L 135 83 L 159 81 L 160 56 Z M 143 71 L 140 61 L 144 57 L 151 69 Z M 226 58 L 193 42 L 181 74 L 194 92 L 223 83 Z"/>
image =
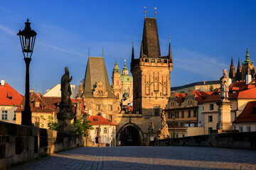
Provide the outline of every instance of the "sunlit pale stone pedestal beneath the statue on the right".
<path id="1" fill-rule="evenodd" d="M 231 104 L 228 100 L 218 101 L 218 133 L 233 132 L 233 125 L 231 122 Z"/>

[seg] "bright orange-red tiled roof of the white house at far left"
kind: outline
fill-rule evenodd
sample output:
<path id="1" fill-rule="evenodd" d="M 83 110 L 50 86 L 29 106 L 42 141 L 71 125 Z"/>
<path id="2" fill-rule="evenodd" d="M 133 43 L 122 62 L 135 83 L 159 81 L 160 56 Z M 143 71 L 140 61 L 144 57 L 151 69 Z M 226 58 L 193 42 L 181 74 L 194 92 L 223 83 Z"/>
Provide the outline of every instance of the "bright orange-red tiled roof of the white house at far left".
<path id="1" fill-rule="evenodd" d="M 0 106 L 18 106 L 21 103 L 22 98 L 23 96 L 9 84 L 5 83 L 4 86 L 0 86 Z"/>

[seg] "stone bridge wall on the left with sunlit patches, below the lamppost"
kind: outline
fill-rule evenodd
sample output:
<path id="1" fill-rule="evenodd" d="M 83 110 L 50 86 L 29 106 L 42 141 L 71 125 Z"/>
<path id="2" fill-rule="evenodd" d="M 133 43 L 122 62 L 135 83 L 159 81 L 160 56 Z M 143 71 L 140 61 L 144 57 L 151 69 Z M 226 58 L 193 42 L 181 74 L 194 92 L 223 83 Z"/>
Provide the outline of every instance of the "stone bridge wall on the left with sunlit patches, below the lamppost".
<path id="1" fill-rule="evenodd" d="M 0 121 L 0 169 L 73 147 L 94 147 L 86 137 Z M 105 144 L 100 144 L 105 147 Z"/>

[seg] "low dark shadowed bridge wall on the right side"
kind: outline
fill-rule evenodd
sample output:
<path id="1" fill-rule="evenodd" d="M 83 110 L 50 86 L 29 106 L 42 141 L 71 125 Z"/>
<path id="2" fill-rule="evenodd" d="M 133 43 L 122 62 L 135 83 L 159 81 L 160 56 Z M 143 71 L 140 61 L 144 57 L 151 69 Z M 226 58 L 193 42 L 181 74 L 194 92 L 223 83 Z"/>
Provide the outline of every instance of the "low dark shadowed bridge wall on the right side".
<path id="1" fill-rule="evenodd" d="M 232 147 L 256 149 L 256 132 L 233 132 L 152 141 L 151 146 Z"/>

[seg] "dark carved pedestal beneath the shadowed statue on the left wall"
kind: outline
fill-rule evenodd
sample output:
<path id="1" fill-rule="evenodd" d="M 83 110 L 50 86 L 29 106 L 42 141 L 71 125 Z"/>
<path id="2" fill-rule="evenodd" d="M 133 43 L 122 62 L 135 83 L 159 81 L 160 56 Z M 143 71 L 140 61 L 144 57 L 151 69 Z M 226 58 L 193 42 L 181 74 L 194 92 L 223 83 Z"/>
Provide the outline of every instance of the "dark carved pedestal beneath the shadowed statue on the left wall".
<path id="1" fill-rule="evenodd" d="M 71 120 L 75 117 L 73 105 L 71 103 L 60 103 L 58 108 L 60 108 L 60 111 L 57 118 L 60 126 L 56 130 L 75 133 L 75 128 L 71 125 Z"/>

